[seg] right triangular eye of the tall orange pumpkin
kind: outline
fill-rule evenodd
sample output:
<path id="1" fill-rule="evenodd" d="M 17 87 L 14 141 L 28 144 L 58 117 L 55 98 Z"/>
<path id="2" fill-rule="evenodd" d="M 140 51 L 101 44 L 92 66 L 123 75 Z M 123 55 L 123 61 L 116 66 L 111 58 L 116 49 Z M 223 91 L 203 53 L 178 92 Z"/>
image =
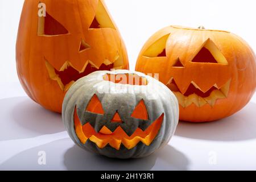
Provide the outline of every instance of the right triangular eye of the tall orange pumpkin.
<path id="1" fill-rule="evenodd" d="M 98 1 L 98 6 L 96 9 L 96 15 L 93 19 L 92 24 L 90 25 L 89 29 L 93 28 L 113 28 L 115 26 L 109 17 L 108 12 L 106 11 L 104 5 L 102 4 L 101 0 Z"/>

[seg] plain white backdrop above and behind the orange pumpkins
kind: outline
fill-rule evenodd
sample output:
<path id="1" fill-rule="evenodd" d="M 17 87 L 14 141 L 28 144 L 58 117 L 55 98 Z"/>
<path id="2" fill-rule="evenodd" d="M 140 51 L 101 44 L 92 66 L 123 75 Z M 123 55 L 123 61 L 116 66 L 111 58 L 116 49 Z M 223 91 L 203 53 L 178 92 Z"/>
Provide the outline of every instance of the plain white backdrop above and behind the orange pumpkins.
<path id="1" fill-rule="evenodd" d="M 163 27 L 203 25 L 231 31 L 256 49 L 256 2 L 253 0 L 106 0 L 130 58 L 131 69 L 146 40 Z M 15 42 L 23 0 L 0 0 L 0 81 L 18 81 Z"/>

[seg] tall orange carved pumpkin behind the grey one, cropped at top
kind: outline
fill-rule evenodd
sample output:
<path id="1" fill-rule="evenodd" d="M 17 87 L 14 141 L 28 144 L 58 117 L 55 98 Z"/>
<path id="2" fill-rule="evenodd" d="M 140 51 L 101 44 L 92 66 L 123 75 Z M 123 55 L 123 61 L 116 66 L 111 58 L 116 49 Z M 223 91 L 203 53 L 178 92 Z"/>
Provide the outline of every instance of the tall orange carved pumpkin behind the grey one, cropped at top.
<path id="1" fill-rule="evenodd" d="M 129 68 L 125 45 L 102 0 L 26 0 L 16 65 L 28 96 L 59 113 L 79 78 Z"/>

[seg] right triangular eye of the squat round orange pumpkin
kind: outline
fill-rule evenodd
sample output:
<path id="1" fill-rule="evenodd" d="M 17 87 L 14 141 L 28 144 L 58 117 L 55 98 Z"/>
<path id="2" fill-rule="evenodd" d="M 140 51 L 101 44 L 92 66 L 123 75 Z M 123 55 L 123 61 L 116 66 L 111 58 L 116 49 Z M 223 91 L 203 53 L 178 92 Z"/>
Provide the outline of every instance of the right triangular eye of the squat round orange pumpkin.
<path id="1" fill-rule="evenodd" d="M 203 48 L 200 49 L 192 62 L 228 64 L 224 55 L 210 39 L 205 42 Z"/>

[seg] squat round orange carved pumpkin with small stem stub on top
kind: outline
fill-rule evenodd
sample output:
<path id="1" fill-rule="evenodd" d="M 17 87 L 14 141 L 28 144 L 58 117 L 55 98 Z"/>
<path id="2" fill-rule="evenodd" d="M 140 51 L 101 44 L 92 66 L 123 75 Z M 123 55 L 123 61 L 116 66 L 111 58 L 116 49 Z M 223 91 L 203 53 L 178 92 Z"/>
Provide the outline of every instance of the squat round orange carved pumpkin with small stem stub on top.
<path id="1" fill-rule="evenodd" d="M 228 31 L 170 26 L 144 45 L 136 70 L 159 73 L 176 95 L 180 120 L 214 121 L 250 101 L 256 87 L 255 53 Z"/>

